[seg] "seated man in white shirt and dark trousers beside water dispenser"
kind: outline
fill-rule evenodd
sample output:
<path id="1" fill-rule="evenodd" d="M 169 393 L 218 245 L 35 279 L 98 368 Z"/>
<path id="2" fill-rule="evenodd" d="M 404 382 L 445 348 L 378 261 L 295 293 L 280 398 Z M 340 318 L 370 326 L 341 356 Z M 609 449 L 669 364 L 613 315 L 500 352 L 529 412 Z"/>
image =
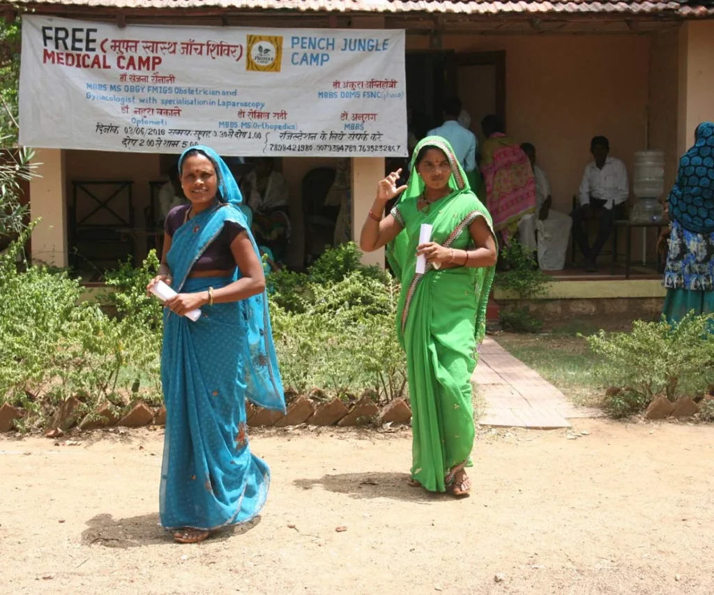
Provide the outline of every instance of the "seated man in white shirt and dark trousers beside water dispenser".
<path id="1" fill-rule="evenodd" d="M 627 201 L 630 184 L 627 168 L 620 159 L 610 157 L 610 141 L 604 136 L 595 136 L 590 142 L 590 153 L 595 158 L 585 166 L 583 181 L 578 192 L 579 205 L 573 217 L 573 238 L 585 255 L 588 273 L 598 271 L 596 261 L 603 246 L 610 238 L 615 219 L 627 219 Z M 588 244 L 585 221 L 598 221 L 598 237 L 592 247 Z"/>

